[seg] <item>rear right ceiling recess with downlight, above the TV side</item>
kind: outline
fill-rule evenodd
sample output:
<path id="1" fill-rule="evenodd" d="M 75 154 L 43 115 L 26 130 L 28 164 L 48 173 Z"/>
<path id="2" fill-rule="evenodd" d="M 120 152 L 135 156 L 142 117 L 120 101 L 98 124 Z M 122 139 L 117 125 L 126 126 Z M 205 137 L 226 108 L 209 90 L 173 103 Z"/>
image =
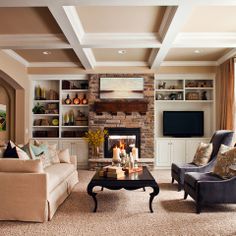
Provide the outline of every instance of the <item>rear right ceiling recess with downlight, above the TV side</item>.
<path id="1" fill-rule="evenodd" d="M 165 61 L 216 61 L 228 51 L 225 48 L 172 48 Z"/>

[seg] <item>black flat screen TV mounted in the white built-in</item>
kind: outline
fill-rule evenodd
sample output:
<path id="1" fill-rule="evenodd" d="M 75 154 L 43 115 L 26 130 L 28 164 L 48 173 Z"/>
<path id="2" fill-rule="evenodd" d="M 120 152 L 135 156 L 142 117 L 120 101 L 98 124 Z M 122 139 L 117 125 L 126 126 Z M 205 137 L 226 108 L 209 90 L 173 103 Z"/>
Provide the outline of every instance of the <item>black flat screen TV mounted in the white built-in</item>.
<path id="1" fill-rule="evenodd" d="M 163 111 L 163 136 L 202 137 L 203 111 Z"/>

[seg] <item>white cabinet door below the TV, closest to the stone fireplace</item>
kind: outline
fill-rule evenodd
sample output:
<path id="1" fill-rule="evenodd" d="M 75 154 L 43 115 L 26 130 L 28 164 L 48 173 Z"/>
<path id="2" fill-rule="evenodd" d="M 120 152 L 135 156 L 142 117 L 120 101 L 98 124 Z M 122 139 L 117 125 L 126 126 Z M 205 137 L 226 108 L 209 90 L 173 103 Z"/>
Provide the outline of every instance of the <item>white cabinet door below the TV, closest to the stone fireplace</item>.
<path id="1" fill-rule="evenodd" d="M 169 167 L 171 164 L 171 142 L 170 140 L 157 141 L 156 164 L 160 167 Z"/>

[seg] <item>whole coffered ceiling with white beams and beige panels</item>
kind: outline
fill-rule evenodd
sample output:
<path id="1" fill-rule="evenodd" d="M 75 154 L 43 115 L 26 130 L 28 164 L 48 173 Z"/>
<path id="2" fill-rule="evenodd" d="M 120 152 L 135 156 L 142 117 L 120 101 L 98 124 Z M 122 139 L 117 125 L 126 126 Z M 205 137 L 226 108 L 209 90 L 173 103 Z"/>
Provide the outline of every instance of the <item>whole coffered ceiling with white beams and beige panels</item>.
<path id="1" fill-rule="evenodd" d="M 236 0 L 1 0 L 0 48 L 27 67 L 216 66 Z"/>

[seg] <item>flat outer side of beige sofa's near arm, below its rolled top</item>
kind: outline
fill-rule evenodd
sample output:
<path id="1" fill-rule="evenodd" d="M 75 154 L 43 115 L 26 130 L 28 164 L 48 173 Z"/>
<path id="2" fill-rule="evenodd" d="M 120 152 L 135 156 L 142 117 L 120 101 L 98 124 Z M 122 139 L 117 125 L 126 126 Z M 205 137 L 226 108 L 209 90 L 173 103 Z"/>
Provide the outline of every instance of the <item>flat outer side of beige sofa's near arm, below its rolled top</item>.
<path id="1" fill-rule="evenodd" d="M 47 174 L 0 172 L 0 219 L 44 222 Z"/>

